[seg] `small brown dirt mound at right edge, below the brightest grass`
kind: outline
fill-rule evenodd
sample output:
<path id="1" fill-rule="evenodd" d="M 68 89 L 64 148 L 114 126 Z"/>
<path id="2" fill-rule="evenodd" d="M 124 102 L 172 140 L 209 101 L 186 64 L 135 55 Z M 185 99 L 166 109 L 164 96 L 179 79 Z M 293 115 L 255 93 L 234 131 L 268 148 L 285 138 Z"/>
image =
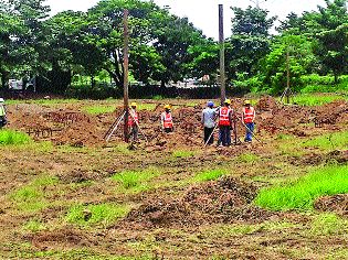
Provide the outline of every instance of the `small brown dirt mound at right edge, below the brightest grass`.
<path id="1" fill-rule="evenodd" d="M 320 212 L 335 212 L 348 217 L 348 194 L 319 197 L 314 203 L 314 208 Z"/>

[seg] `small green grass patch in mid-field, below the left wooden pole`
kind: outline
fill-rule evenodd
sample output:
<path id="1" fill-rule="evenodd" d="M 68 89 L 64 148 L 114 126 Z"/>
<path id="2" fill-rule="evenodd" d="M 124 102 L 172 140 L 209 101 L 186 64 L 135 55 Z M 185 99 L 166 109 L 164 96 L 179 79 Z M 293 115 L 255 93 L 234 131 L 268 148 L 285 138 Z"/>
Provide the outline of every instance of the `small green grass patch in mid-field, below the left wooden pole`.
<path id="1" fill-rule="evenodd" d="M 149 181 L 160 175 L 156 167 L 149 167 L 143 171 L 124 171 L 112 176 L 112 180 L 120 185 L 122 189 L 133 193 L 149 189 Z"/>

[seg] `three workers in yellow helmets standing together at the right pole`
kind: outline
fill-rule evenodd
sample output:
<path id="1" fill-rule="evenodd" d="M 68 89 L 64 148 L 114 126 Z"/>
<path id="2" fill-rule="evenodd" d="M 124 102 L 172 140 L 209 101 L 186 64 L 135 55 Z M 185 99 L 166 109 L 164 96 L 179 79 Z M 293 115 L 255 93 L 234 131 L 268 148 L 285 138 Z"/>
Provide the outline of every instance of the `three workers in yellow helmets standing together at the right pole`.
<path id="1" fill-rule="evenodd" d="M 218 119 L 218 123 L 215 122 Z M 218 145 L 231 145 L 231 130 L 235 128 L 236 112 L 231 108 L 231 100 L 225 99 L 222 107 L 214 108 L 213 101 L 207 104 L 207 108 L 202 112 L 202 124 L 204 127 L 204 143 L 212 144 L 214 142 L 213 131 L 219 127 Z M 250 100 L 244 101 L 242 109 L 241 122 L 245 127 L 245 142 L 253 139 L 255 109 L 251 106 Z M 234 129 L 236 130 L 236 129 Z"/>

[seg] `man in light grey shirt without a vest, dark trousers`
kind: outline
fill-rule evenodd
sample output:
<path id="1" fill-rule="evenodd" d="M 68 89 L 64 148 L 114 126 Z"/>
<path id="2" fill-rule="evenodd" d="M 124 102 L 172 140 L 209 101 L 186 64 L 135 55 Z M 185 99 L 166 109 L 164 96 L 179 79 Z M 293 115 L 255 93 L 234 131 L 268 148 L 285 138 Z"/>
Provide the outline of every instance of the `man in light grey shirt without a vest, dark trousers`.
<path id="1" fill-rule="evenodd" d="M 207 108 L 202 112 L 202 126 L 204 127 L 204 144 L 212 144 L 214 142 L 214 137 L 212 132 L 215 128 L 217 112 L 214 109 L 214 102 L 209 101 Z"/>

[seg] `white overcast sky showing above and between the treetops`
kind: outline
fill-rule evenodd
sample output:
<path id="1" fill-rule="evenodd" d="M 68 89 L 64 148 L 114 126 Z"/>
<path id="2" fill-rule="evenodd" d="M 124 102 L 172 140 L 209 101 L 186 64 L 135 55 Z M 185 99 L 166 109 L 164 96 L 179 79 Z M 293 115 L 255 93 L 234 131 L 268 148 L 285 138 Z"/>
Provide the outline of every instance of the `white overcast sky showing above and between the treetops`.
<path id="1" fill-rule="evenodd" d="M 179 17 L 188 17 L 196 28 L 209 37 L 218 39 L 218 4 L 224 4 L 225 36 L 230 35 L 232 12 L 230 7 L 247 8 L 255 6 L 257 0 L 155 0 L 160 6 L 169 6 L 170 12 Z M 324 0 L 259 0 L 260 7 L 270 10 L 271 15 L 284 20 L 289 12 L 300 14 L 304 11 L 317 10 L 317 6 L 325 6 Z M 87 11 L 98 0 L 46 0 L 52 14 L 60 11 Z"/>

